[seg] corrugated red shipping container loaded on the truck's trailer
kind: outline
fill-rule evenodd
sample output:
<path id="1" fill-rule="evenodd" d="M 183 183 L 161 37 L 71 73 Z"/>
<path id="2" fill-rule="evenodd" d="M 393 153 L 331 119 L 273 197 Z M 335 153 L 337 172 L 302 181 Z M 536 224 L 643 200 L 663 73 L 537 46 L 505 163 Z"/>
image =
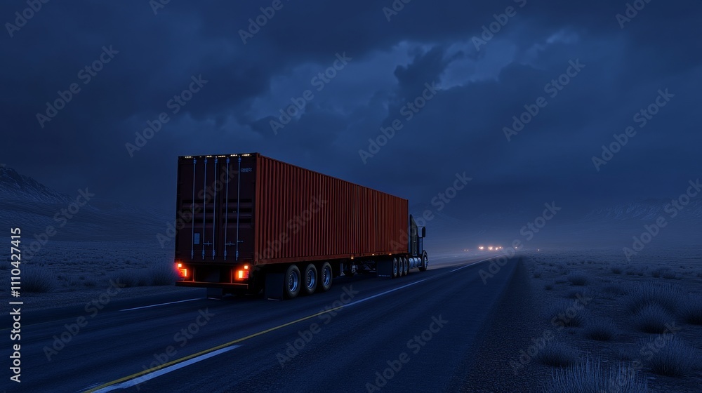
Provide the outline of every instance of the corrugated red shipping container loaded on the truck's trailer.
<path id="1" fill-rule="evenodd" d="M 258 153 L 178 158 L 176 259 L 336 260 L 408 252 L 408 201 Z"/>

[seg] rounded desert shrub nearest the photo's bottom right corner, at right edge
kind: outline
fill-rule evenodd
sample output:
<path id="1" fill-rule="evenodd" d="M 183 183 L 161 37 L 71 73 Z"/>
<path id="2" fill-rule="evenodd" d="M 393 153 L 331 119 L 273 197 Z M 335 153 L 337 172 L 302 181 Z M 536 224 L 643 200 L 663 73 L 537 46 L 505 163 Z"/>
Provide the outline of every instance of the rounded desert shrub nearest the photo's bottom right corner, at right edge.
<path id="1" fill-rule="evenodd" d="M 692 371 L 701 367 L 702 358 L 698 350 L 681 338 L 671 338 L 663 344 L 662 348 L 656 344 L 656 340 L 653 340 L 642 345 L 649 348 L 653 354 L 648 361 L 648 366 L 653 373 L 682 377 L 690 375 Z"/>

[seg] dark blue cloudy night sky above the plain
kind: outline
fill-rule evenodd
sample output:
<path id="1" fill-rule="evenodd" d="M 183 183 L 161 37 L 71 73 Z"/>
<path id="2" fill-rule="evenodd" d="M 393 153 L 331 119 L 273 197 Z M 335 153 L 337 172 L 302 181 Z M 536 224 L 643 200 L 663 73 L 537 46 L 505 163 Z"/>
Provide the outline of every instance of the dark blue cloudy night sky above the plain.
<path id="1" fill-rule="evenodd" d="M 89 187 L 166 211 L 185 154 L 262 152 L 420 205 L 465 172 L 454 215 L 673 197 L 702 174 L 699 1 L 651 0 L 625 20 L 616 0 L 413 0 L 396 14 L 383 11 L 390 0 L 282 0 L 246 44 L 241 30 L 272 1 L 154 4 L 2 2 L 0 162 L 67 194 Z M 505 11 L 491 39 L 474 39 Z M 343 69 L 313 79 L 337 55 Z M 193 76 L 206 83 L 173 114 L 169 100 Z M 441 89 L 408 119 L 404 105 L 432 83 Z M 70 102 L 37 119 L 72 84 Z M 665 89 L 674 96 L 641 127 L 635 114 Z M 274 133 L 270 121 L 307 90 L 314 98 Z M 545 107 L 508 141 L 512 116 L 540 97 Z M 125 144 L 161 112 L 168 122 L 130 156 Z M 364 163 L 359 150 L 395 119 L 402 129 Z M 628 126 L 635 136 L 597 171 L 592 156 Z"/>

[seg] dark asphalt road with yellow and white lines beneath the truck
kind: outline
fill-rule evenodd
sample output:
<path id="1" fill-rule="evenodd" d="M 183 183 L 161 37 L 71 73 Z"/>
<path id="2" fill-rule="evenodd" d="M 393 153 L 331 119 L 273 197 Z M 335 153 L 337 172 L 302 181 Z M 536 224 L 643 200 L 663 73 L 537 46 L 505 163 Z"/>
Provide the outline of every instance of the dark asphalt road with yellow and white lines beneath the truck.
<path id="1" fill-rule="evenodd" d="M 483 284 L 478 271 L 490 261 L 482 258 L 433 258 L 428 271 L 399 279 L 340 277 L 327 293 L 283 302 L 212 300 L 194 289 L 115 298 L 89 312 L 27 312 L 22 382 L 6 382 L 6 371 L 1 385 L 7 392 L 455 391 L 515 266 L 508 262 Z"/>

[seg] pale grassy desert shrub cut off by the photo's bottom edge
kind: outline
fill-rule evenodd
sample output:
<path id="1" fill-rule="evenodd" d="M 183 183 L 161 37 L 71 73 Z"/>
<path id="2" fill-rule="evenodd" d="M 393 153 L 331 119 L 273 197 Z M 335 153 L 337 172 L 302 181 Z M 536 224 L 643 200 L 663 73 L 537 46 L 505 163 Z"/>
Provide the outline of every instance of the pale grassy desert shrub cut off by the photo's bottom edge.
<path id="1" fill-rule="evenodd" d="M 631 368 L 602 366 L 602 362 L 586 359 L 584 362 L 567 370 L 557 371 L 545 390 L 548 393 L 646 393 L 648 385 L 645 378 Z"/>

